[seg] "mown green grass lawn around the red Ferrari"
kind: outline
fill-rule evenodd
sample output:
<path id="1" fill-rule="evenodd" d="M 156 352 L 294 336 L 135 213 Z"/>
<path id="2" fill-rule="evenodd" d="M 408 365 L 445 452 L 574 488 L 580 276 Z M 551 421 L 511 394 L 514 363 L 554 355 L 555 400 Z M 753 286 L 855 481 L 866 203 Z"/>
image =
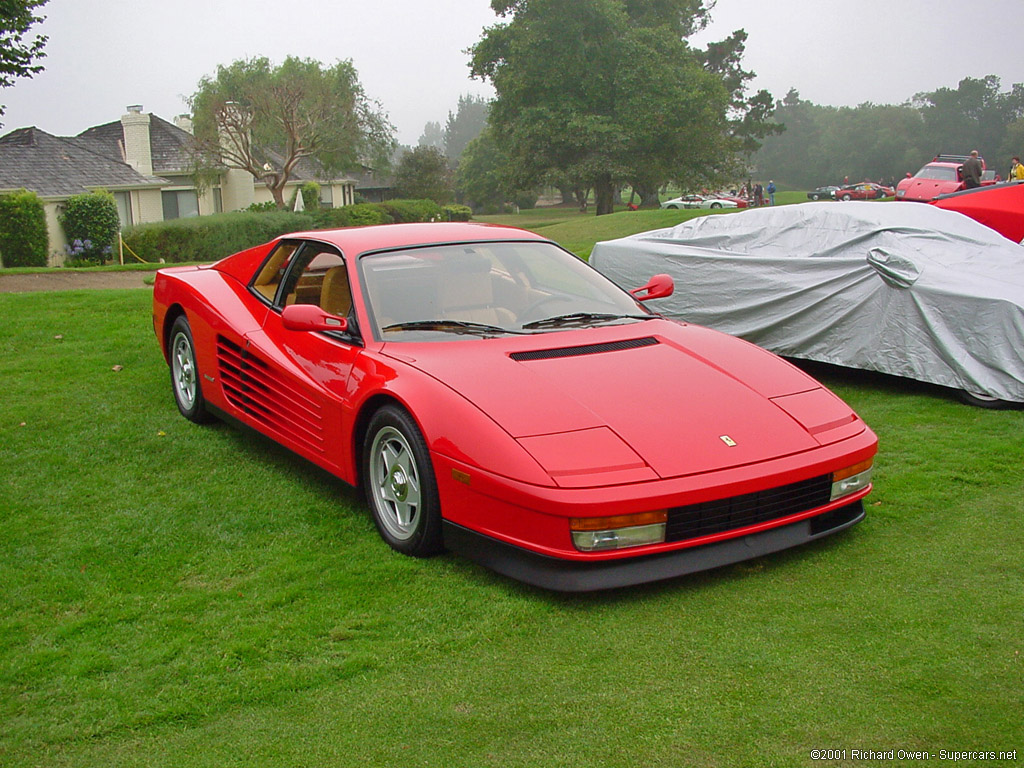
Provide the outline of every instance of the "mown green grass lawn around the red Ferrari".
<path id="1" fill-rule="evenodd" d="M 591 218 L 590 244 L 657 215 Z M 589 252 L 577 225 L 550 228 Z M 863 523 L 563 596 L 393 554 L 351 488 L 181 419 L 148 303 L 0 295 L 0 764 L 761 767 L 810 765 L 814 748 L 1024 749 L 1024 413 L 816 368 L 881 438 Z"/>

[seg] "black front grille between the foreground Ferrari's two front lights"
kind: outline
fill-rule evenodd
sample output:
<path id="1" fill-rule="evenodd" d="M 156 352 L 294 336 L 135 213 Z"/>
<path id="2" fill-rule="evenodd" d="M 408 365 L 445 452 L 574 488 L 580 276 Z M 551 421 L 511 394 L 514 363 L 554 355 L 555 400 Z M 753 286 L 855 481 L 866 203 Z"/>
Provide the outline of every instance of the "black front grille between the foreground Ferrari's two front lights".
<path id="1" fill-rule="evenodd" d="M 822 507 L 830 497 L 831 476 L 821 475 L 755 494 L 674 507 L 669 510 L 665 541 L 682 542 L 778 520 Z"/>

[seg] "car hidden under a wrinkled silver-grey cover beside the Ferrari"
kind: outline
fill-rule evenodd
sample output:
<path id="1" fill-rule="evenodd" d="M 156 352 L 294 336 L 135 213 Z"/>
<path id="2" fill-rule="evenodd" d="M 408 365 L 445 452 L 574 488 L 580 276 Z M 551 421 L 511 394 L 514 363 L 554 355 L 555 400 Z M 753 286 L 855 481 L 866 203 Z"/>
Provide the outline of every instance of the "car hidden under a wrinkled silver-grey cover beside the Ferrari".
<path id="1" fill-rule="evenodd" d="M 781 355 L 1024 402 L 1024 248 L 933 206 L 806 203 L 598 243 L 622 285 L 665 271 L 672 317 Z"/>

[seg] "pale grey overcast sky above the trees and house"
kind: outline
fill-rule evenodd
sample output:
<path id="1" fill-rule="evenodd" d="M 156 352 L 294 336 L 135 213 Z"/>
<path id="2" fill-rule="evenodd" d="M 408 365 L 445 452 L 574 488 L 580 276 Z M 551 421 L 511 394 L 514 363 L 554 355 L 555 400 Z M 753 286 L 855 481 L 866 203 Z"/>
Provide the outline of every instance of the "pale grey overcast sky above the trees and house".
<path id="1" fill-rule="evenodd" d="M 572 2 L 573 0 L 565 0 Z M 1024 82 L 1024 0 L 718 0 L 702 45 L 749 38 L 744 68 L 776 98 L 900 103 L 964 77 Z M 443 125 L 470 80 L 466 49 L 499 19 L 488 0 L 50 0 L 45 71 L 0 90 L 0 134 L 35 125 L 74 135 L 128 104 L 171 120 L 217 65 L 265 55 L 352 59 L 367 94 L 414 144 Z"/>

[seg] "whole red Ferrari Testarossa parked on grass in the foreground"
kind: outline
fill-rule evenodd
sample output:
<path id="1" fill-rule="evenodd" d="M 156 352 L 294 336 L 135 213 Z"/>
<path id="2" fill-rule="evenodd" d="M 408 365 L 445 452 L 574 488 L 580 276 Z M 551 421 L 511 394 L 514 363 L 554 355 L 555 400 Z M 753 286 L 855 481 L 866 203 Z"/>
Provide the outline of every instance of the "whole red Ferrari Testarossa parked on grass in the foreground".
<path id="1" fill-rule="evenodd" d="M 381 536 L 542 587 L 667 579 L 863 516 L 877 438 L 771 353 L 511 227 L 287 234 L 162 269 L 174 398 L 365 487 Z"/>

